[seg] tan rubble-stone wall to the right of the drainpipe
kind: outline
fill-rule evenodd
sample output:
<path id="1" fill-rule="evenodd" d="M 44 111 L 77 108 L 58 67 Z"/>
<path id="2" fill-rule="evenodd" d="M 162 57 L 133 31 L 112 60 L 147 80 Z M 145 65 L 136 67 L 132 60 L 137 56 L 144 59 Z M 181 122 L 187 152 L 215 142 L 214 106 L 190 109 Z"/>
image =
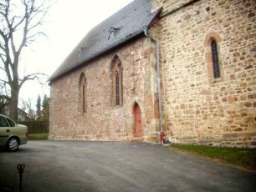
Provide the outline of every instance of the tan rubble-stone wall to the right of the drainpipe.
<path id="1" fill-rule="evenodd" d="M 157 0 L 161 6 L 156 27 L 166 138 L 255 148 L 256 2 Z M 218 79 L 207 68 L 211 35 L 219 38 Z"/>

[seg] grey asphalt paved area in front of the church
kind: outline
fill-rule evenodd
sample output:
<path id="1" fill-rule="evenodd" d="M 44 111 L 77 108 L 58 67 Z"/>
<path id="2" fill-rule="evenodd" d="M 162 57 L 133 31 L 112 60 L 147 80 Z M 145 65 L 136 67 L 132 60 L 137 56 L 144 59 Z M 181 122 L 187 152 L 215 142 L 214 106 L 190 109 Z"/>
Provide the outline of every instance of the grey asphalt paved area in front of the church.
<path id="1" fill-rule="evenodd" d="M 29 141 L 0 150 L 0 191 L 18 191 L 17 164 L 26 164 L 23 192 L 256 191 L 255 173 L 156 144 Z"/>

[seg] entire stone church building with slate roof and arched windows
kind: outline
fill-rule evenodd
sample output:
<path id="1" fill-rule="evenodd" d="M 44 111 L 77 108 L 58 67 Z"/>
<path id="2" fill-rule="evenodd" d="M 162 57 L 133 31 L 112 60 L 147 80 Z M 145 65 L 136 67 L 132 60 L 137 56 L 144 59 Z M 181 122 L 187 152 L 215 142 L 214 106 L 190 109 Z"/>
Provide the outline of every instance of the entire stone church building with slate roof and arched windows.
<path id="1" fill-rule="evenodd" d="M 256 2 L 134 0 L 49 79 L 49 139 L 256 147 Z"/>

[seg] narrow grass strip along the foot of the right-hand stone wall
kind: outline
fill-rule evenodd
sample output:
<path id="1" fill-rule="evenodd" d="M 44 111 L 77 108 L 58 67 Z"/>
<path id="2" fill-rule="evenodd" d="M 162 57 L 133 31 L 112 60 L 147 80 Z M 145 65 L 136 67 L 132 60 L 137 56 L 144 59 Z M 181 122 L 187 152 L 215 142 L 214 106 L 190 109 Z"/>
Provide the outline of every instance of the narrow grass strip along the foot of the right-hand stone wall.
<path id="1" fill-rule="evenodd" d="M 208 147 L 202 145 L 171 144 L 171 149 L 179 149 L 203 157 L 218 159 L 227 164 L 256 170 L 256 149 Z"/>

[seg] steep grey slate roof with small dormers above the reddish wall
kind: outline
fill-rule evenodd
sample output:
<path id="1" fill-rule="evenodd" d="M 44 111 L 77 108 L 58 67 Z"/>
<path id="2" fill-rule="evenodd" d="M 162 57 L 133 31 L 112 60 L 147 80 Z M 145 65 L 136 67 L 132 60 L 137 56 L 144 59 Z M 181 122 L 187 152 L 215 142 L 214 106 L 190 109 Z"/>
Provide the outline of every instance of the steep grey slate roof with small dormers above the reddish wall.
<path id="1" fill-rule="evenodd" d="M 152 0 L 135 0 L 92 28 L 49 81 L 66 75 L 100 54 L 143 33 L 143 29 L 148 28 L 159 13 L 151 13 L 151 3 Z"/>

